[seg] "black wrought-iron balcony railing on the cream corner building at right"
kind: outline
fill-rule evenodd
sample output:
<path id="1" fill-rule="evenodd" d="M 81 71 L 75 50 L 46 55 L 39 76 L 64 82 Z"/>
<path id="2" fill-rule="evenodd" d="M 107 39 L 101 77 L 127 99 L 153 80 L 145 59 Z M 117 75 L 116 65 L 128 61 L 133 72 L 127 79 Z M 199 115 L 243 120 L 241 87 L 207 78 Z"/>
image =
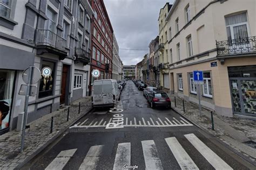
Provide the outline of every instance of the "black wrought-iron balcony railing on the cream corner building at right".
<path id="1" fill-rule="evenodd" d="M 256 36 L 216 41 L 218 55 L 238 55 L 256 52 Z"/>

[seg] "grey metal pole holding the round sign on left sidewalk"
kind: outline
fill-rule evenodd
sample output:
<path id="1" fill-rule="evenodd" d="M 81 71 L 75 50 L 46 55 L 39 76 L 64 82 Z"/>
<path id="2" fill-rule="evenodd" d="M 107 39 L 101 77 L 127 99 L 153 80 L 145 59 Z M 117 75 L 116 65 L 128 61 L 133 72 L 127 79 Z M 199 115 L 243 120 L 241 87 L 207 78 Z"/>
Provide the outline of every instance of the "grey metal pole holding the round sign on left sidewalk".
<path id="1" fill-rule="evenodd" d="M 23 152 L 24 148 L 24 138 L 26 132 L 26 117 L 28 116 L 28 105 L 29 105 L 29 92 L 30 92 L 30 85 L 32 80 L 32 67 L 29 67 L 29 76 L 28 76 L 28 84 L 26 87 L 26 96 L 25 96 L 25 104 L 24 104 L 24 117 L 23 117 L 23 127 L 22 127 L 22 141 L 21 141 L 21 152 Z"/>

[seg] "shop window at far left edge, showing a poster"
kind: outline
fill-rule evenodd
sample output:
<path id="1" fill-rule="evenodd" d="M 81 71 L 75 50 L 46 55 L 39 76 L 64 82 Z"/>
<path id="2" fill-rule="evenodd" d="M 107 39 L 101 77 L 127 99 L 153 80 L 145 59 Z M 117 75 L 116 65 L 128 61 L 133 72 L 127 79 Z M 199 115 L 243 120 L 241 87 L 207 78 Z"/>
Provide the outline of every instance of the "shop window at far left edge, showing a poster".
<path id="1" fill-rule="evenodd" d="M 0 131 L 9 127 L 14 77 L 14 70 L 0 69 Z"/>

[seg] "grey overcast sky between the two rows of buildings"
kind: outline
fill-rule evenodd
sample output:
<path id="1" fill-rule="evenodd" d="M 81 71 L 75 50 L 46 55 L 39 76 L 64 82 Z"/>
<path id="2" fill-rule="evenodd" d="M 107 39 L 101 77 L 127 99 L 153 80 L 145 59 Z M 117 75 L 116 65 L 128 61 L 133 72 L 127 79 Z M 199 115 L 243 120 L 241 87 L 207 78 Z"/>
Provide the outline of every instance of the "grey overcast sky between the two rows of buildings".
<path id="1" fill-rule="evenodd" d="M 158 17 L 166 2 L 173 0 L 104 0 L 124 65 L 136 65 L 149 53 L 149 43 L 158 36 Z"/>

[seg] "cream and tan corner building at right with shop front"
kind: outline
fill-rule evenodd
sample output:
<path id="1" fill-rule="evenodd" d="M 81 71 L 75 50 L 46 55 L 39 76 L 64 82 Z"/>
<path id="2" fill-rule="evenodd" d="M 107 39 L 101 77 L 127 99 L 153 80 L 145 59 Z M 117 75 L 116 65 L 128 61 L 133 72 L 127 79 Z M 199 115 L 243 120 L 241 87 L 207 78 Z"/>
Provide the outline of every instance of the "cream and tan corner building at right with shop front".
<path id="1" fill-rule="evenodd" d="M 218 12 L 217 12 L 218 11 Z M 256 116 L 255 1 L 175 1 L 168 22 L 170 91 L 224 116 Z"/>

